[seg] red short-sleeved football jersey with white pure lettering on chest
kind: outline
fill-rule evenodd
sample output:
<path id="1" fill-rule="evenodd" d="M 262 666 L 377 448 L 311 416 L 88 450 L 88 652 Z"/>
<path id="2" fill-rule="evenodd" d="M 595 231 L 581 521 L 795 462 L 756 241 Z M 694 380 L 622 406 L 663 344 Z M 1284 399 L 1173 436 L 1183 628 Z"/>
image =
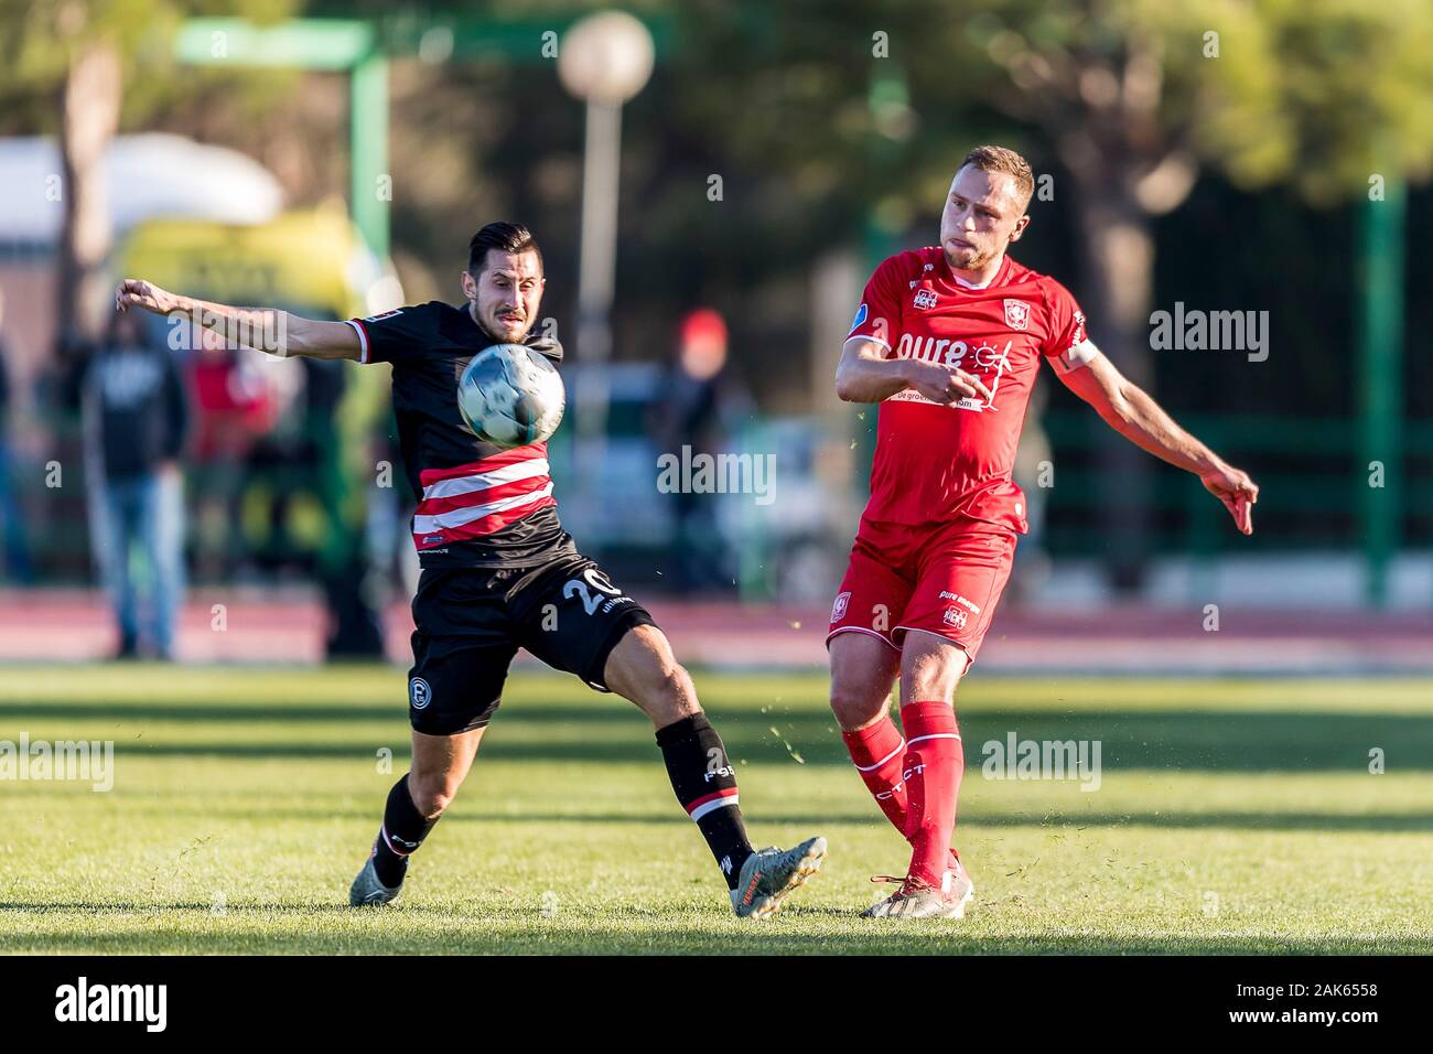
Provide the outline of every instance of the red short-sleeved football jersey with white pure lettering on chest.
<path id="1" fill-rule="evenodd" d="M 1093 350 L 1069 290 L 1009 255 L 974 287 L 931 245 L 876 268 L 850 336 L 884 344 L 887 359 L 959 366 L 995 393 L 953 407 L 913 389 L 886 399 L 866 516 L 913 525 L 966 516 L 1025 533 L 1025 495 L 1010 469 L 1040 359 L 1068 371 Z"/>

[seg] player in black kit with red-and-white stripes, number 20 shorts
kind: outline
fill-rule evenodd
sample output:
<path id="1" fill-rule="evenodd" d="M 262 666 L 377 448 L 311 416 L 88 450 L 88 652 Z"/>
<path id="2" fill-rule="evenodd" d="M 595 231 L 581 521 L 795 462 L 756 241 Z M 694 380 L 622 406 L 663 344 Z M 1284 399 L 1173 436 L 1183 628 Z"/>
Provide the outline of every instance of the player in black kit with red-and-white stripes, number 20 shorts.
<path id="1" fill-rule="evenodd" d="M 557 521 L 546 443 L 510 450 L 479 442 L 457 409 L 457 380 L 493 344 L 529 344 L 555 361 L 556 340 L 532 327 L 543 294 L 542 252 L 519 224 L 496 222 L 469 244 L 463 307 L 438 301 L 373 318 L 314 321 L 239 308 L 128 278 L 115 305 L 182 313 L 279 356 L 391 363 L 404 467 L 421 496 L 413 539 L 423 574 L 413 599 L 408 718 L 413 767 L 388 792 L 373 852 L 350 903 L 393 901 L 413 853 L 451 803 L 502 698 L 507 667 L 527 648 L 599 691 L 635 703 L 656 727 L 678 802 L 696 822 L 742 918 L 772 915 L 814 875 L 825 839 L 754 850 L 737 777 L 696 690 L 646 609 L 573 545 Z"/>

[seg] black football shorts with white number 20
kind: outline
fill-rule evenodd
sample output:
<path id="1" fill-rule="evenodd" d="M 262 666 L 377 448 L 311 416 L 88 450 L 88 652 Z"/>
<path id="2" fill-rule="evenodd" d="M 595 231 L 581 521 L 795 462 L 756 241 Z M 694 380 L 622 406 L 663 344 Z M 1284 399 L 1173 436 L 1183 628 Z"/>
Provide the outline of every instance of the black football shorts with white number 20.
<path id="1" fill-rule="evenodd" d="M 519 648 L 608 691 L 608 655 L 646 608 L 575 552 L 530 568 L 428 568 L 413 598 L 408 720 L 416 731 L 480 728 Z"/>

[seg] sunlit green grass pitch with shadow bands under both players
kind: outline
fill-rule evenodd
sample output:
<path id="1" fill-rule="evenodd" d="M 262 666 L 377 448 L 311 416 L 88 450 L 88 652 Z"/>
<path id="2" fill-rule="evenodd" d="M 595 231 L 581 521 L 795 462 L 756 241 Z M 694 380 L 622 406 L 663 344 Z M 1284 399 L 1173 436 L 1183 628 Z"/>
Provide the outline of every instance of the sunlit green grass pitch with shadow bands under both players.
<path id="1" fill-rule="evenodd" d="M 977 673 L 956 830 L 976 898 L 933 925 L 856 918 L 904 843 L 820 673 L 696 683 L 752 839 L 830 839 L 767 924 L 731 916 L 645 718 L 573 678 L 512 677 L 403 899 L 351 911 L 406 771 L 400 670 L 0 670 L 0 740 L 115 741 L 109 793 L 0 782 L 0 951 L 1433 952 L 1433 683 Z M 1099 789 L 986 779 L 1012 731 L 1099 740 Z"/>

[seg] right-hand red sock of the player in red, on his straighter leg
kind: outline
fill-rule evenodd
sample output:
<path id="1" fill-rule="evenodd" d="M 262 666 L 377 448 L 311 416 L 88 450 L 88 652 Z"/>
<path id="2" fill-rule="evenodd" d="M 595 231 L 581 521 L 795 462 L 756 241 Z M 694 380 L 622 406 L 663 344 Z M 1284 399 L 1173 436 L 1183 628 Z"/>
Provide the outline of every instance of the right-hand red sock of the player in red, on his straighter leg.
<path id="1" fill-rule="evenodd" d="M 956 797 L 966 770 L 960 728 L 949 703 L 907 703 L 901 707 L 900 723 L 906 728 L 910 873 L 939 886 L 950 863 Z"/>

